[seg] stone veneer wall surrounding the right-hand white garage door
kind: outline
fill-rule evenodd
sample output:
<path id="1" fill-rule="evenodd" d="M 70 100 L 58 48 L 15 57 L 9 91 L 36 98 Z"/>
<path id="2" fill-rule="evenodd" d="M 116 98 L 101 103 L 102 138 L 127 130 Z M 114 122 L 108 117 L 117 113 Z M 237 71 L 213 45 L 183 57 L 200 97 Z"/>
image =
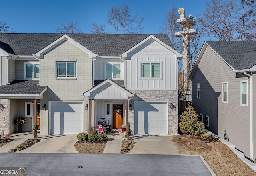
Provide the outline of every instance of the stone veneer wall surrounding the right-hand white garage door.
<path id="1" fill-rule="evenodd" d="M 134 98 L 130 100 L 129 104 L 129 121 L 130 127 L 134 130 L 134 101 L 146 101 L 146 102 L 168 102 L 168 133 L 178 134 L 177 115 L 177 91 L 172 90 L 130 90 L 134 95 Z M 174 104 L 176 110 L 170 108 L 170 103 Z"/>

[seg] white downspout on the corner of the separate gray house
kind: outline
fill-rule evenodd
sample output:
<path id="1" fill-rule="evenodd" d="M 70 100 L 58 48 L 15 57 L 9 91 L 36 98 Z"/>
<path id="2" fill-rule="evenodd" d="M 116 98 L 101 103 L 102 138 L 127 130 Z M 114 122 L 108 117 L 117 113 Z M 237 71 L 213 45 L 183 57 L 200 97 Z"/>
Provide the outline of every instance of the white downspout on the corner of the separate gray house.
<path id="1" fill-rule="evenodd" d="M 252 98 L 252 75 L 244 72 L 244 75 L 250 77 L 250 159 L 253 159 L 253 111 L 252 111 L 252 103 L 253 103 L 253 98 Z"/>

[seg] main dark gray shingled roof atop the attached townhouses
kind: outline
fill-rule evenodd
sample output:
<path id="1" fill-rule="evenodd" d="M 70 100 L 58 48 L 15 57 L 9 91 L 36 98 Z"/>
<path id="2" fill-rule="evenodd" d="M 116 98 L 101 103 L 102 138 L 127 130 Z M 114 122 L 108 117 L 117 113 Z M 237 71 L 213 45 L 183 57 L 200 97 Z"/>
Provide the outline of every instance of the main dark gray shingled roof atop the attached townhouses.
<path id="1" fill-rule="evenodd" d="M 0 47 L 15 55 L 33 55 L 64 34 L 1 33 Z M 151 34 L 67 34 L 69 37 L 100 56 L 119 56 Z M 152 34 L 173 47 L 167 34 Z"/>

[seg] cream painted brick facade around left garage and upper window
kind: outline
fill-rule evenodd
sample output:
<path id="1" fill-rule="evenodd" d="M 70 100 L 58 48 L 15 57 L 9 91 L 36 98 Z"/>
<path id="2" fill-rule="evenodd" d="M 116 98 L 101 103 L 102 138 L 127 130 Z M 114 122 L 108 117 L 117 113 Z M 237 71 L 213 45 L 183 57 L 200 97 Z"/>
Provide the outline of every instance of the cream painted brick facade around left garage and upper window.
<path id="1" fill-rule="evenodd" d="M 76 78 L 56 78 L 56 61 L 76 62 Z M 48 86 L 41 100 L 40 133 L 49 132 L 49 101 L 84 101 L 81 94 L 92 88 L 92 59 L 89 55 L 70 43 L 65 41 L 44 55 L 40 63 L 41 86 Z M 46 104 L 46 111 L 42 106 Z M 87 110 L 84 110 L 84 131 L 87 127 Z"/>

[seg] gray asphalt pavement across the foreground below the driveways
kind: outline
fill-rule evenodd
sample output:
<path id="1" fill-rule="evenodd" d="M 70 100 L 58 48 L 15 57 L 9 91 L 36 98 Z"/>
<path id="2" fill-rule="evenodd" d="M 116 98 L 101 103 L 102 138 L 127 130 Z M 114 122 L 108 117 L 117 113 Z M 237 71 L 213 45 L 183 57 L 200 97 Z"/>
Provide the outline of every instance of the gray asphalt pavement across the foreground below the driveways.
<path id="1" fill-rule="evenodd" d="M 212 175 L 200 156 L 163 154 L 0 153 L 0 167 L 26 167 L 28 176 Z"/>

